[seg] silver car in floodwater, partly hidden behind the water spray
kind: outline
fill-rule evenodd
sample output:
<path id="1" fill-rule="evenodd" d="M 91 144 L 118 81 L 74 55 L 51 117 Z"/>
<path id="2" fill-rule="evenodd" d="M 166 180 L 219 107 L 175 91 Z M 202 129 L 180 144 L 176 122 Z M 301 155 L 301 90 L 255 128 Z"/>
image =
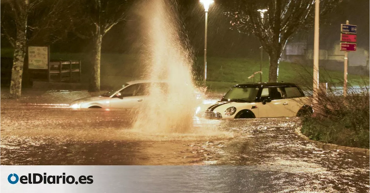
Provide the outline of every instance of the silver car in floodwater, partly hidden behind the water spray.
<path id="1" fill-rule="evenodd" d="M 166 81 L 135 80 L 127 82 L 122 87 L 100 96 L 78 99 L 70 104 L 71 108 L 142 108 L 147 103 L 148 88 L 156 84 L 163 92 L 168 88 Z M 196 99 L 200 93 L 194 93 Z M 195 100 L 196 100 L 195 99 Z"/>

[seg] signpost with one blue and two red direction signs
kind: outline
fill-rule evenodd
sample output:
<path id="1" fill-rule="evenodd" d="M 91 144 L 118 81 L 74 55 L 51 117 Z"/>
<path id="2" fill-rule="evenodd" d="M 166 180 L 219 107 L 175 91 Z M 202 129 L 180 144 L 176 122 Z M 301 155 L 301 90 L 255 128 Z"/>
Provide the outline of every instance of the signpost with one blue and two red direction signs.
<path id="1" fill-rule="evenodd" d="M 347 20 L 346 24 L 340 25 L 340 51 L 344 51 L 344 82 L 343 96 L 347 96 L 347 75 L 348 75 L 348 52 L 355 52 L 357 49 L 357 25 L 350 25 Z M 348 43 L 352 42 L 352 43 Z"/>

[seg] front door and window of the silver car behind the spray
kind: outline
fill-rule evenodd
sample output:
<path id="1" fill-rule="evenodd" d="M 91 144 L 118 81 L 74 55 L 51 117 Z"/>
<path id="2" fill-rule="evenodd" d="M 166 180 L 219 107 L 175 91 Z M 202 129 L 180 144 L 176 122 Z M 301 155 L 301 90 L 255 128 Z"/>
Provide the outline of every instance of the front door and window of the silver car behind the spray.
<path id="1" fill-rule="evenodd" d="M 111 108 L 142 108 L 147 95 L 148 83 L 129 85 L 119 92 L 120 97 L 113 96 L 110 100 Z"/>

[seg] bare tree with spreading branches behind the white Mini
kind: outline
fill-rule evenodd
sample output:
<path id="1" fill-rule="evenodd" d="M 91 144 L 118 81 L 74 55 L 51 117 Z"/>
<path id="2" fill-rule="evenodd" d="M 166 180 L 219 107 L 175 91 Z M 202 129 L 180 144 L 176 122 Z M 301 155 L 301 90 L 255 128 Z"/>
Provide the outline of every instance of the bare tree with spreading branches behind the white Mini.
<path id="1" fill-rule="evenodd" d="M 320 0 L 326 15 L 342 0 Z M 232 28 L 254 34 L 269 54 L 269 82 L 276 82 L 286 42 L 296 32 L 312 27 L 315 0 L 225 0 Z M 266 12 L 261 14 L 261 10 Z"/>

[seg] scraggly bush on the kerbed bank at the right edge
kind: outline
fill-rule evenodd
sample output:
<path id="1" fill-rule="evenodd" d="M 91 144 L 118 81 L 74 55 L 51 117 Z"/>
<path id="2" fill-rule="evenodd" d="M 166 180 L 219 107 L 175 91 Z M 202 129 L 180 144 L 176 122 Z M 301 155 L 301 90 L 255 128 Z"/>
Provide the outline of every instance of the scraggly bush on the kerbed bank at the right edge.
<path id="1" fill-rule="evenodd" d="M 369 87 L 351 90 L 347 97 L 333 90 L 321 96 L 315 117 L 303 118 L 302 133 L 325 143 L 370 148 Z"/>

